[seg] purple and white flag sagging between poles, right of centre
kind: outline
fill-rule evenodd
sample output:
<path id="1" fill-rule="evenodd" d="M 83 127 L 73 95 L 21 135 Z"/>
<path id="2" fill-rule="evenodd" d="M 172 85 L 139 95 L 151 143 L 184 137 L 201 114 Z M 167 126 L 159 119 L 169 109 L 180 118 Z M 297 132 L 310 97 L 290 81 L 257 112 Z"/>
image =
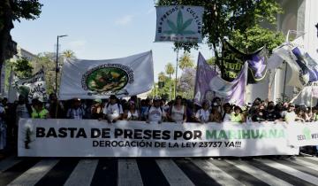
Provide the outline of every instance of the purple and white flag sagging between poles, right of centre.
<path id="1" fill-rule="evenodd" d="M 201 105 L 208 95 L 215 94 L 223 97 L 225 102 L 242 106 L 245 103 L 245 89 L 247 81 L 247 66 L 245 63 L 238 77 L 233 81 L 224 81 L 208 66 L 201 53 L 198 57 L 197 74 L 194 90 L 194 103 Z"/>

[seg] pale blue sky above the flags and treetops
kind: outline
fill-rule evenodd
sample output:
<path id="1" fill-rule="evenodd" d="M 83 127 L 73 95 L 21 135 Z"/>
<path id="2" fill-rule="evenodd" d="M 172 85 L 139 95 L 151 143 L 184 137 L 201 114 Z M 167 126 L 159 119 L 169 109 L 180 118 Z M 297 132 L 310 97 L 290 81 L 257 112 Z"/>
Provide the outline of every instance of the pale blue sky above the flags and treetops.
<path id="1" fill-rule="evenodd" d="M 60 51 L 73 50 L 77 58 L 123 58 L 152 50 L 154 75 L 164 72 L 170 62 L 176 64 L 173 43 L 154 43 L 155 4 L 153 0 L 40 0 L 43 4 L 39 19 L 14 22 L 12 38 L 20 47 L 34 54 L 55 52 L 57 35 Z M 192 50 L 196 63 L 201 51 L 211 58 L 208 44 Z M 181 56 L 183 50 L 180 50 Z M 178 76 L 181 74 L 178 70 Z"/>

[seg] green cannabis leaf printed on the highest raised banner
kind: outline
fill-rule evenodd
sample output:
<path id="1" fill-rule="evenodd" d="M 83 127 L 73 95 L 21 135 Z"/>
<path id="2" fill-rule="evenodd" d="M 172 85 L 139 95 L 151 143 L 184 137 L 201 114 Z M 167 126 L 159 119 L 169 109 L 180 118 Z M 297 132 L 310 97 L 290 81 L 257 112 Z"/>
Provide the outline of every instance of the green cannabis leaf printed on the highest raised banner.
<path id="1" fill-rule="evenodd" d="M 187 19 L 186 22 L 184 22 L 182 12 L 179 11 L 177 15 L 177 25 L 170 19 L 167 19 L 170 30 L 165 30 L 163 33 L 167 35 L 194 35 L 195 32 L 192 30 L 186 30 L 186 28 L 191 25 L 192 21 L 193 19 Z"/>

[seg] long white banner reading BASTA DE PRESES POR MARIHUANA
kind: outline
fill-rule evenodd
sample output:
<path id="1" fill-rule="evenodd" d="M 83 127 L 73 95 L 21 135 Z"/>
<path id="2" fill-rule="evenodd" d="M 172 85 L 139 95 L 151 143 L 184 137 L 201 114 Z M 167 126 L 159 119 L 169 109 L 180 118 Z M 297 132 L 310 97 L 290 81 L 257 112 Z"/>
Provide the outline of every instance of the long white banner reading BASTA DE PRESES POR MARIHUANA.
<path id="1" fill-rule="evenodd" d="M 293 155 L 288 125 L 19 120 L 19 156 L 204 157 Z"/>

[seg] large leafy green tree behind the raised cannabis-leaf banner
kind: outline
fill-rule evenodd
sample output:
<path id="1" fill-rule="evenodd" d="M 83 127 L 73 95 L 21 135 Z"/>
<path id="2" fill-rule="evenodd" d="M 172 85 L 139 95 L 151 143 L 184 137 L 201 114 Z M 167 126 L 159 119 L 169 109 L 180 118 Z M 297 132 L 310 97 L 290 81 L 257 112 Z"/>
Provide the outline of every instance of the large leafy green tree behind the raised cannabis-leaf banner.
<path id="1" fill-rule="evenodd" d="M 202 36 L 207 40 L 208 46 L 214 50 L 216 64 L 221 57 L 224 38 L 227 38 L 234 47 L 246 52 L 257 50 L 259 46 L 265 44 L 272 49 L 279 45 L 277 43 L 284 42 L 281 40 L 282 33 L 259 27 L 262 23 L 276 27 L 276 15 L 282 13 L 276 0 L 159 0 L 157 2 L 157 5 L 180 4 L 204 6 Z M 251 30 L 255 28 L 258 35 L 249 38 L 252 36 Z M 237 41 L 240 35 L 249 42 L 241 44 L 241 41 Z M 260 39 L 265 35 L 267 39 Z M 175 43 L 175 47 L 177 46 L 187 51 L 192 48 L 198 49 L 197 43 Z"/>

